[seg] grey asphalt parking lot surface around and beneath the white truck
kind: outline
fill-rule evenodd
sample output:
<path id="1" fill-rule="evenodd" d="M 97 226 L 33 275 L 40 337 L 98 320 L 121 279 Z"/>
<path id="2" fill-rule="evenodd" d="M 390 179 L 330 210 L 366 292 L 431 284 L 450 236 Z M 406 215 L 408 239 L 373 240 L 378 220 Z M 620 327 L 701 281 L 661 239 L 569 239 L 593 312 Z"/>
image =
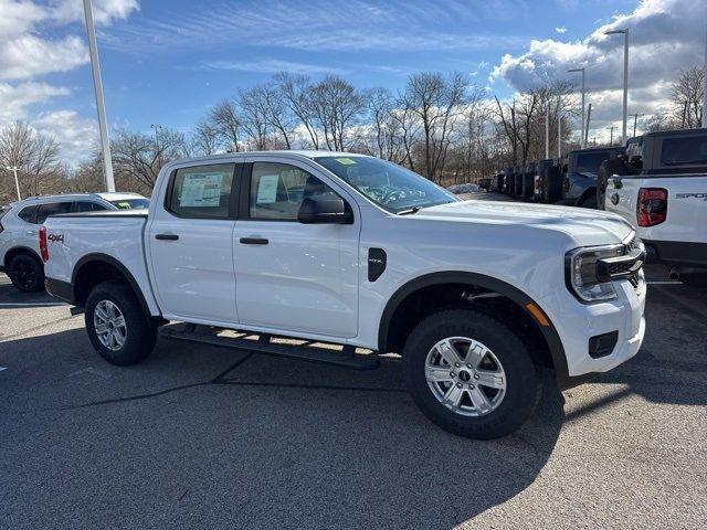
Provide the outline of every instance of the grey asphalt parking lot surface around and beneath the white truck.
<path id="1" fill-rule="evenodd" d="M 648 288 L 639 356 L 495 442 L 400 367 L 160 340 L 116 368 L 83 317 L 0 275 L 0 528 L 704 528 L 707 294 Z"/>

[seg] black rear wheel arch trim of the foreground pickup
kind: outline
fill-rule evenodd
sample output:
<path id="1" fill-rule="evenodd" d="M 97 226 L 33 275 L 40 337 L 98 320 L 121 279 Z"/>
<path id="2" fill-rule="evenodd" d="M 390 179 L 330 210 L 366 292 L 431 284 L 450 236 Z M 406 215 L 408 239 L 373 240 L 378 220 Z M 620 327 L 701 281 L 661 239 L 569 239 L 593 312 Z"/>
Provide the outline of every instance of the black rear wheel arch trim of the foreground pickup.
<path id="1" fill-rule="evenodd" d="M 99 283 L 110 279 L 127 283 L 140 303 L 145 316 L 148 318 L 151 316 L 143 289 L 140 289 L 135 276 L 118 259 L 103 253 L 86 254 L 74 265 L 71 277 L 74 304 L 83 307 L 91 289 Z"/>

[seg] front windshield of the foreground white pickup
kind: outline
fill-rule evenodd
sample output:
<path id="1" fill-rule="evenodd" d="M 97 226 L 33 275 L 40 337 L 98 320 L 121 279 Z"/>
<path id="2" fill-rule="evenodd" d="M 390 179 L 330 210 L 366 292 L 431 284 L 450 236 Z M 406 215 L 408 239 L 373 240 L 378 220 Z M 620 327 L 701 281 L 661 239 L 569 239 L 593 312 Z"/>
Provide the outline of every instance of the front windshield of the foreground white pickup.
<path id="1" fill-rule="evenodd" d="M 453 193 L 400 166 L 369 157 L 319 157 L 315 160 L 392 213 L 458 201 Z"/>

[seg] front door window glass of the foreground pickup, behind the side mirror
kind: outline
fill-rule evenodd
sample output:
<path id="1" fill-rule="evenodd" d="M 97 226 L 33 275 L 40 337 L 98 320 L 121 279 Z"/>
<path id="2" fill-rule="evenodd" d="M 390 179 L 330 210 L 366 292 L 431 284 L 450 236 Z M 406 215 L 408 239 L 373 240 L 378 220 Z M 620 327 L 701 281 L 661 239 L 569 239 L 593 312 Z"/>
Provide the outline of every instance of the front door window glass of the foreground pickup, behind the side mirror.
<path id="1" fill-rule="evenodd" d="M 287 163 L 255 162 L 251 172 L 250 218 L 296 221 L 302 201 L 337 193 L 307 171 Z"/>

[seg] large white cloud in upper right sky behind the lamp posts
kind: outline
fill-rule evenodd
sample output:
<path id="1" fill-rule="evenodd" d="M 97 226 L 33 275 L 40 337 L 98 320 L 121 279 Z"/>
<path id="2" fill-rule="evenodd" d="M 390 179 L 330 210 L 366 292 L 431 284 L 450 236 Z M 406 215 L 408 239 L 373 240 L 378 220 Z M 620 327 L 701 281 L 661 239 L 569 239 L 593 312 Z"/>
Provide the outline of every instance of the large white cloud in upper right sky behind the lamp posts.
<path id="1" fill-rule="evenodd" d="M 584 66 L 592 123 L 603 129 L 621 117 L 623 73 L 622 35 L 604 32 L 629 28 L 629 113 L 652 114 L 667 104 L 669 82 L 679 70 L 704 61 L 705 20 L 704 0 L 643 0 L 633 12 L 615 15 L 582 41 L 530 41 L 525 53 L 504 55 L 492 78 L 524 89 L 551 80 L 576 82 L 577 74 L 567 70 Z"/>

